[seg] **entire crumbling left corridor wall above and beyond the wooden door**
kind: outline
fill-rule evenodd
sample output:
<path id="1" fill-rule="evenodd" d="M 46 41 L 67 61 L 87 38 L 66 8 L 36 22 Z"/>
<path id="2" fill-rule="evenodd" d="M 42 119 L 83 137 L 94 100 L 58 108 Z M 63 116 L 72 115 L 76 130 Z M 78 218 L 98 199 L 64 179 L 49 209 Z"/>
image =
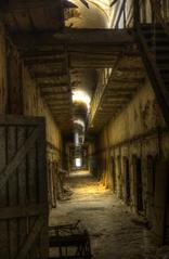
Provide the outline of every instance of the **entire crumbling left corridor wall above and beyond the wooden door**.
<path id="1" fill-rule="evenodd" d="M 47 121 L 49 204 L 56 205 L 55 179 L 62 165 L 62 135 L 35 79 L 0 24 L 0 113 L 43 116 Z"/>

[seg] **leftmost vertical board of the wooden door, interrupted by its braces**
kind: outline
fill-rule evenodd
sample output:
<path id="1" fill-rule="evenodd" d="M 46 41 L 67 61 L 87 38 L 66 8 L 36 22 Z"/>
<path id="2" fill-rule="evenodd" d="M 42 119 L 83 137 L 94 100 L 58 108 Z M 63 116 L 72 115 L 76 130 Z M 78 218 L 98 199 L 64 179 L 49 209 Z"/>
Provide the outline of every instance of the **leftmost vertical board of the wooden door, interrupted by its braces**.
<path id="1" fill-rule="evenodd" d="M 4 168 L 6 164 L 6 134 L 5 127 L 0 127 L 0 171 Z M 8 205 L 8 192 L 6 184 L 0 189 L 0 210 L 1 207 Z M 0 220 L 0 258 L 10 259 L 9 255 L 9 237 L 8 237 L 8 222 L 5 220 Z"/>

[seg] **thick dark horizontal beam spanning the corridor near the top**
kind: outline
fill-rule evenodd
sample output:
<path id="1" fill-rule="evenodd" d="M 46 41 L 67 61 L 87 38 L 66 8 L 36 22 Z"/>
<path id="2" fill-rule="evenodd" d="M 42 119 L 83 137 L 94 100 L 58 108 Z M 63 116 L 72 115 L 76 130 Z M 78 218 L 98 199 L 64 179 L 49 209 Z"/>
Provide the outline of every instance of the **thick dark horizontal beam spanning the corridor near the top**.
<path id="1" fill-rule="evenodd" d="M 16 33 L 12 35 L 13 42 L 22 49 L 36 47 L 54 47 L 61 43 L 108 46 L 113 48 L 133 43 L 133 38 L 126 29 L 68 29 L 62 34 L 55 31 Z"/>

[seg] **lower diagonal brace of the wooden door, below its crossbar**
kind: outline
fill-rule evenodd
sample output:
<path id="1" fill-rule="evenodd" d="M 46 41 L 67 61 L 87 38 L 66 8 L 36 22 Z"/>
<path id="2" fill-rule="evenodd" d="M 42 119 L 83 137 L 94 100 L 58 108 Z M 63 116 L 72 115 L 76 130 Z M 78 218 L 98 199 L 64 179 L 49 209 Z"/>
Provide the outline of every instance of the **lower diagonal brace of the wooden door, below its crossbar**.
<path id="1" fill-rule="evenodd" d="M 35 239 L 37 238 L 37 236 L 39 235 L 42 226 L 44 224 L 44 219 L 43 217 L 38 217 L 31 231 L 29 232 L 26 241 L 23 244 L 23 247 L 21 248 L 21 250 L 18 251 L 16 259 L 25 259 L 29 249 L 31 248 Z"/>

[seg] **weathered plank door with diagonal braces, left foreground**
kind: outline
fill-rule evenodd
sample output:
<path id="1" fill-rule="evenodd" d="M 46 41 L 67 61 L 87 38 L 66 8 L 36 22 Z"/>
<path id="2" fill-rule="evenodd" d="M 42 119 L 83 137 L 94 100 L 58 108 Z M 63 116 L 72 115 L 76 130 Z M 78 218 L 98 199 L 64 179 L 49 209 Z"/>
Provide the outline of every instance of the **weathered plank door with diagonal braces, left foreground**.
<path id="1" fill-rule="evenodd" d="M 0 258 L 48 258 L 43 118 L 0 116 Z"/>

